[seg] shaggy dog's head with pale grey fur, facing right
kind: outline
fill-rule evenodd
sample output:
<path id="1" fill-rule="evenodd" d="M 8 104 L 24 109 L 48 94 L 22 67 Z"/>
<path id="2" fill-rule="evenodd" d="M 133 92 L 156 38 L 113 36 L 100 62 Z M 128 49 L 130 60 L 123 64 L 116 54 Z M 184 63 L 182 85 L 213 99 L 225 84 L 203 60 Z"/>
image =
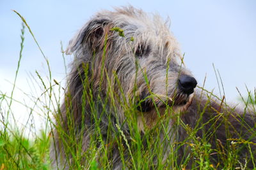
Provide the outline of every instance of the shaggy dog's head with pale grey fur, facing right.
<path id="1" fill-rule="evenodd" d="M 70 41 L 67 52 L 90 65 L 95 89 L 104 68 L 108 78 L 102 85 L 107 88 L 109 79 L 126 97 L 138 96 L 141 112 L 167 104 L 186 110 L 191 103 L 196 80 L 182 66 L 179 46 L 158 15 L 134 8 L 102 11 Z"/>

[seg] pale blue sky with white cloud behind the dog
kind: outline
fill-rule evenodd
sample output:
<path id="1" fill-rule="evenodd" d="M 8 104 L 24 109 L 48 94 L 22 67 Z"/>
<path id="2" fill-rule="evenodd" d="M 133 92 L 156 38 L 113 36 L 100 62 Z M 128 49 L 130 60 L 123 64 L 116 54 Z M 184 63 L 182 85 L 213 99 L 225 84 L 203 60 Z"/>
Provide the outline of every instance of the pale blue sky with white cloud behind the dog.
<path id="1" fill-rule="evenodd" d="M 22 15 L 31 27 L 47 59 L 52 78 L 65 83 L 65 67 L 61 44 L 99 10 L 113 10 L 115 6 L 132 5 L 148 13 L 170 17 L 170 30 L 185 53 L 186 67 L 193 73 L 198 85 L 220 95 L 214 68 L 218 69 L 225 97 L 231 103 L 256 86 L 256 1 L 0 1 L 0 91 L 10 94 L 20 52 L 21 20 L 12 10 Z M 72 55 L 65 56 L 67 62 Z M 47 77 L 47 64 L 33 38 L 26 29 L 24 50 L 20 61 L 17 87 L 31 93 L 29 79 L 35 71 Z M 14 97 L 26 101 L 20 90 Z M 24 98 L 23 98 L 24 97 Z M 19 106 L 15 107 L 20 110 Z"/>

